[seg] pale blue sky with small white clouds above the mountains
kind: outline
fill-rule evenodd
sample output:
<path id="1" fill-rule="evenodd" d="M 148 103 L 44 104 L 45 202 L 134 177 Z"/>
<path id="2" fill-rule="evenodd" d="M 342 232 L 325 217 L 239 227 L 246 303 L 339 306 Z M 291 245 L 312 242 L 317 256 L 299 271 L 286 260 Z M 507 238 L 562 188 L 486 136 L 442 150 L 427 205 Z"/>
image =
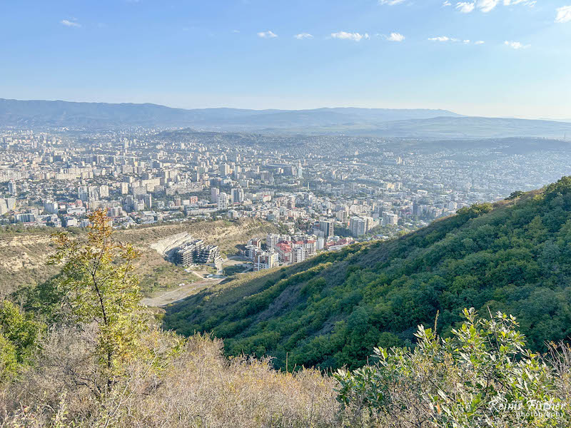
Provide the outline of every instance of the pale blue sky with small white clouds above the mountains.
<path id="1" fill-rule="evenodd" d="M 0 0 L 0 98 L 571 119 L 571 0 Z"/>

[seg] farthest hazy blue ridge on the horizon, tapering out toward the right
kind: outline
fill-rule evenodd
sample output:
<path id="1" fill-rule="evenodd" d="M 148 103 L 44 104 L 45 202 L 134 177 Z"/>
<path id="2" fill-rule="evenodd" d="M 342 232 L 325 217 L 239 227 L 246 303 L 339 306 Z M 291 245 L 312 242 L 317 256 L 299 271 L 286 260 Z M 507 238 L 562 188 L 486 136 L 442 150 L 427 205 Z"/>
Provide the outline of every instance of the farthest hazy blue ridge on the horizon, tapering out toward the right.
<path id="1" fill-rule="evenodd" d="M 117 128 L 125 126 L 183 127 L 215 130 L 365 126 L 385 121 L 459 116 L 445 110 L 385 108 L 316 108 L 313 110 L 186 110 L 156 104 L 19 101 L 0 98 L 0 126 Z"/>

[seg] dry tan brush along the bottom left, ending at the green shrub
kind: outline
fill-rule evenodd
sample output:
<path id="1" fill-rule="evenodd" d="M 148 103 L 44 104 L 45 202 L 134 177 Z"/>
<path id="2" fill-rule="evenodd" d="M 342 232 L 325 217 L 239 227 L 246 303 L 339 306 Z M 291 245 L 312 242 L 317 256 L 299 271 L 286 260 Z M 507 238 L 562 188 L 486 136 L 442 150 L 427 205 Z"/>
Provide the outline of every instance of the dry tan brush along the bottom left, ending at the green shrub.
<path id="1" fill-rule="evenodd" d="M 49 336 L 39 367 L 0 392 L 2 427 L 343 425 L 333 379 L 315 370 L 276 372 L 269 360 L 227 360 L 221 340 L 191 337 L 168 367 L 156 370 L 143 358 L 101 391 L 89 354 L 93 332 Z"/>

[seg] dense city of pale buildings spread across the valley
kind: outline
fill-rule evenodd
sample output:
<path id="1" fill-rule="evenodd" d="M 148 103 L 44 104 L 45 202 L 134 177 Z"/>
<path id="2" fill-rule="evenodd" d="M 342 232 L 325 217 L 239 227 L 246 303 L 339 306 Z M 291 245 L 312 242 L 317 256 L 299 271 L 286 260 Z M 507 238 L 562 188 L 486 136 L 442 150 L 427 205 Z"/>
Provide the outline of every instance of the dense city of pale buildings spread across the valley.
<path id="1" fill-rule="evenodd" d="M 5 128 L 0 143 L 4 228 L 84 228 L 97 208 L 115 228 L 257 218 L 279 233 L 243 243 L 255 271 L 540 188 L 571 160 L 552 141 L 525 138 L 427 149 L 397 138 Z M 217 245 L 191 236 L 169 257 L 184 266 L 221 261 Z"/>

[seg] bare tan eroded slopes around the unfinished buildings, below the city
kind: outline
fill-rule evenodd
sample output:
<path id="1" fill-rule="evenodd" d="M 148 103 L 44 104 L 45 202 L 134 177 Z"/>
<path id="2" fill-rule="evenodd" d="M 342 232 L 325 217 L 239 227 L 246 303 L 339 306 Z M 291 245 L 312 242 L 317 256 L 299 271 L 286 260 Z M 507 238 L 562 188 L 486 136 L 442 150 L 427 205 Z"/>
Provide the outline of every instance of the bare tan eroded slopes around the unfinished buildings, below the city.
<path id="1" fill-rule="evenodd" d="M 14 291 L 16 287 L 36 285 L 59 272 L 54 265 L 46 265 L 50 255 L 55 253 L 52 234 L 60 230 L 29 229 L 0 231 L 0 298 Z M 118 230 L 117 239 L 131 243 L 141 253 L 137 261 L 141 287 L 146 295 L 165 290 L 196 277 L 181 267 L 167 262 L 153 243 L 177 233 L 190 233 L 206 243 L 216 244 L 226 255 L 236 253 L 236 245 L 254 236 L 265 236 L 275 231 L 275 226 L 258 220 L 242 219 L 237 222 L 217 220 L 195 223 L 166 223 L 146 227 Z M 84 230 L 76 230 L 82 235 Z"/>

